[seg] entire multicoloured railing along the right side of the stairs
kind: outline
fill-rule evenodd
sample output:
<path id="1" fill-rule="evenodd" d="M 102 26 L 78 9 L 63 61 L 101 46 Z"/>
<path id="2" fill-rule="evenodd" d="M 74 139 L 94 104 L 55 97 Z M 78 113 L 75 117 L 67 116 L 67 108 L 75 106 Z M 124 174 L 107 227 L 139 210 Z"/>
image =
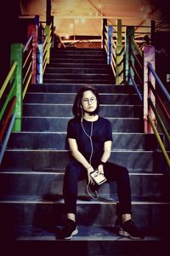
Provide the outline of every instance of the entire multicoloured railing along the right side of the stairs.
<path id="1" fill-rule="evenodd" d="M 148 38 L 152 38 L 153 25 L 152 21 L 150 36 L 147 35 Z M 155 71 L 155 47 L 150 44 L 150 40 L 147 42 L 143 40 L 143 42 L 138 42 L 137 44 L 134 38 L 138 27 L 135 28 L 134 26 L 126 26 L 124 32 L 125 43 L 123 44 L 121 20 L 117 20 L 116 29 L 114 26 L 107 26 L 107 20 L 105 20 L 103 27 L 103 48 L 107 55 L 107 64 L 111 65 L 115 75 L 116 84 L 133 85 L 134 90 L 139 96 L 139 102 L 144 106 L 144 132 L 154 132 L 156 134 L 161 151 L 167 160 L 167 166 L 170 166 L 166 149 L 169 148 L 170 141 L 166 128 L 166 125 L 169 125 L 169 115 L 164 102 L 158 96 L 156 84 L 161 84 L 158 86 L 161 87 L 162 92 L 167 96 L 168 104 L 169 95 Z M 142 48 L 139 47 L 139 43 Z M 162 109 L 161 114 L 158 113 L 157 104 Z M 161 127 L 161 131 L 158 131 L 158 125 Z M 160 132 L 164 135 L 163 141 Z"/>

